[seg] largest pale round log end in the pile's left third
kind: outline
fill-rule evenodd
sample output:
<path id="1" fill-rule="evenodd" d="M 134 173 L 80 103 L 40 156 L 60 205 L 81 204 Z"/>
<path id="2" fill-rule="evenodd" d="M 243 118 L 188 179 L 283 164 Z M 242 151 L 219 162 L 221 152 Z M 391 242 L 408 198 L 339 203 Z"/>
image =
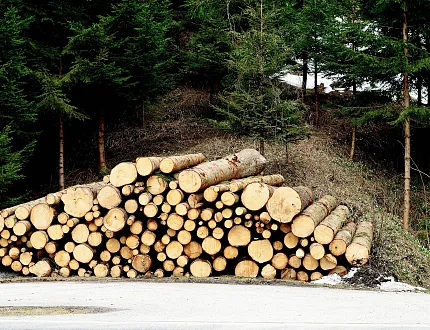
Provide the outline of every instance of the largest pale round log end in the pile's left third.
<path id="1" fill-rule="evenodd" d="M 66 190 L 61 200 L 66 213 L 75 218 L 82 218 L 94 205 L 94 193 L 86 187 L 72 187 Z"/>

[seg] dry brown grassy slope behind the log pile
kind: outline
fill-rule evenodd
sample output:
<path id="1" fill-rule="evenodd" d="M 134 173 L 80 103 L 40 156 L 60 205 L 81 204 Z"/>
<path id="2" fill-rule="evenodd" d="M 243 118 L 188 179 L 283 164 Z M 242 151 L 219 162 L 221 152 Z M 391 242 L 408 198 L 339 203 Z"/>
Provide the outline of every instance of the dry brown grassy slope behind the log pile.
<path id="1" fill-rule="evenodd" d="M 177 89 L 167 100 L 152 109 L 143 128 L 122 124 L 108 129 L 110 168 L 138 156 L 202 152 L 211 160 L 244 148 L 258 149 L 256 141 L 218 131 L 202 119 L 210 109 L 205 91 Z M 347 146 L 339 142 L 337 132 L 336 127 L 314 129 L 309 138 L 289 145 L 288 157 L 284 145 L 266 142 L 265 173 L 280 173 L 291 186 L 309 186 L 315 198 L 334 195 L 350 207 L 353 218 L 374 223 L 372 258 L 360 271 L 362 284 L 392 274 L 430 288 L 430 252 L 402 230 L 397 216 L 402 204 L 401 177 L 383 165 L 348 161 Z M 68 185 L 98 180 L 91 170 L 70 173 Z"/>

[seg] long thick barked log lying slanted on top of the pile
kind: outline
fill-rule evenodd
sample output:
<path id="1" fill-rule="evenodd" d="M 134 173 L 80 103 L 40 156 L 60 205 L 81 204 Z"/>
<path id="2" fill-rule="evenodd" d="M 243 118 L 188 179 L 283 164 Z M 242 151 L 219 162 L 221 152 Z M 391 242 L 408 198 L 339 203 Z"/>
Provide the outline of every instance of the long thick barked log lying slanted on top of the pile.
<path id="1" fill-rule="evenodd" d="M 178 177 L 179 186 L 187 193 L 195 193 L 222 181 L 258 174 L 265 165 L 266 159 L 257 150 L 244 149 L 182 171 Z"/>

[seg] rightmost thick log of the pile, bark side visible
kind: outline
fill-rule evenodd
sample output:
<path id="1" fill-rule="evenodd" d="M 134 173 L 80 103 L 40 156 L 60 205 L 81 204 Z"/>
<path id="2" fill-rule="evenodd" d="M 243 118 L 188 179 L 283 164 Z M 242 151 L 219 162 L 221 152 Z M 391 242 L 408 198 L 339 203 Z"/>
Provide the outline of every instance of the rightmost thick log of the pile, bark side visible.
<path id="1" fill-rule="evenodd" d="M 372 239 L 372 223 L 368 221 L 359 223 L 351 244 L 346 248 L 346 260 L 353 266 L 362 266 L 366 264 L 369 261 Z"/>

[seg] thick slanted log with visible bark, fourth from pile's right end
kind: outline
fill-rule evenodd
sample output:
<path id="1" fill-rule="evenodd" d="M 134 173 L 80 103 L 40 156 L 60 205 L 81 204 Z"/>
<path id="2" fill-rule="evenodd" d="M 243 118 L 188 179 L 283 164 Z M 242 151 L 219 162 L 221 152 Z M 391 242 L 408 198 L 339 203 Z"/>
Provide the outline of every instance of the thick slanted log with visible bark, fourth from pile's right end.
<path id="1" fill-rule="evenodd" d="M 325 195 L 317 202 L 308 206 L 293 220 L 291 229 L 294 235 L 297 237 L 307 237 L 311 235 L 315 227 L 318 226 L 335 207 L 336 198 L 330 195 Z"/>

